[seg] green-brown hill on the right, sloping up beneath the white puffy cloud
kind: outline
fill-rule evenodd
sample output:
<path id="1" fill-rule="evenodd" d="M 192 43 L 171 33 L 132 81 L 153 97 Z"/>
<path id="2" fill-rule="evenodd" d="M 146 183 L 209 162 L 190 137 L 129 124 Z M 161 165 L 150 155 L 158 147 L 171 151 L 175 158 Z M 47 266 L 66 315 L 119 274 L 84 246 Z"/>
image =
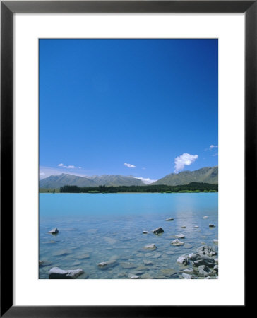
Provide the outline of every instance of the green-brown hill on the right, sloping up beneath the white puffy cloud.
<path id="1" fill-rule="evenodd" d="M 152 184 L 181 185 L 191 182 L 205 182 L 217 184 L 218 167 L 203 167 L 195 171 L 182 171 L 179 173 L 171 173 Z"/>

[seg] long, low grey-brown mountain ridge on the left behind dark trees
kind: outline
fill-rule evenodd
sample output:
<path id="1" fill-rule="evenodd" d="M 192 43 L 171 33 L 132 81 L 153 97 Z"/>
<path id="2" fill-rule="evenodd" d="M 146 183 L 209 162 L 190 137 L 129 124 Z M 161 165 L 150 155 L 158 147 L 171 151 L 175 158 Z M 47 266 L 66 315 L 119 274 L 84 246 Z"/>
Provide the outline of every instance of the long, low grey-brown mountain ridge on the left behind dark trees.
<path id="1" fill-rule="evenodd" d="M 45 179 L 40 180 L 40 188 L 50 189 L 59 188 L 64 185 L 76 185 L 78 187 L 98 187 L 100 185 L 106 186 L 131 186 L 131 185 L 145 185 L 140 179 L 131 176 L 122 175 L 101 175 L 92 177 L 79 177 L 77 175 L 68 175 L 62 173 L 61 175 L 51 175 Z"/>

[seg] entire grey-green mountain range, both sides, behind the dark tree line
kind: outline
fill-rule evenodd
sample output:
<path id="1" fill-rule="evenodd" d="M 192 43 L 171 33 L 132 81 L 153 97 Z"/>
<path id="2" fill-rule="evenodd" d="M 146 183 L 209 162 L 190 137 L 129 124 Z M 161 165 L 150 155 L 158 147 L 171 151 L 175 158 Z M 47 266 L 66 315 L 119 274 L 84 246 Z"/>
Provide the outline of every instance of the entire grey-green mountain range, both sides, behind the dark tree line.
<path id="1" fill-rule="evenodd" d="M 152 184 L 182 185 L 190 182 L 205 182 L 210 184 L 218 183 L 218 167 L 203 167 L 195 171 L 182 171 L 171 173 L 165 177 L 153 182 Z M 109 186 L 131 186 L 145 185 L 141 179 L 133 176 L 123 175 L 100 175 L 91 177 L 79 177 L 77 175 L 51 175 L 40 180 L 40 188 L 59 188 L 64 185 L 76 185 L 78 187 L 98 187 L 100 185 Z"/>

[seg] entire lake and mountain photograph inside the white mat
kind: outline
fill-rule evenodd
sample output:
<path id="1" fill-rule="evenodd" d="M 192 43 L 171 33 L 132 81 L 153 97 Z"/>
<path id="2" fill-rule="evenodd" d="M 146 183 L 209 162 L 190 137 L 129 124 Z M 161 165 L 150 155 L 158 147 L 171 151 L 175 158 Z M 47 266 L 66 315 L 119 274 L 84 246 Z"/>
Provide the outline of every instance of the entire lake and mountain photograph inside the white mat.
<path id="1" fill-rule="evenodd" d="M 218 42 L 38 40 L 38 278 L 218 278 Z"/>

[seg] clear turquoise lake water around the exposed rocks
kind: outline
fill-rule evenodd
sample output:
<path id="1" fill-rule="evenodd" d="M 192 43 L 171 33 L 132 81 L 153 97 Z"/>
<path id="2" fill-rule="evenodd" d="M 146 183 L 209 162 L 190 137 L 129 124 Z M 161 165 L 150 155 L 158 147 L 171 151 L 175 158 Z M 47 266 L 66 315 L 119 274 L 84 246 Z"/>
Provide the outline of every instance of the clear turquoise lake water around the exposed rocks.
<path id="1" fill-rule="evenodd" d="M 217 206 L 217 193 L 40 194 L 39 278 L 48 278 L 52 267 L 83 269 L 77 279 L 182 278 L 179 271 L 192 265 L 177 264 L 179 256 L 201 245 L 218 252 Z M 162 235 L 150 232 L 158 227 Z M 58 235 L 49 234 L 52 228 Z M 184 245 L 171 245 L 177 234 L 185 235 Z M 157 249 L 144 248 L 152 243 Z M 112 268 L 97 266 L 112 259 Z"/>

